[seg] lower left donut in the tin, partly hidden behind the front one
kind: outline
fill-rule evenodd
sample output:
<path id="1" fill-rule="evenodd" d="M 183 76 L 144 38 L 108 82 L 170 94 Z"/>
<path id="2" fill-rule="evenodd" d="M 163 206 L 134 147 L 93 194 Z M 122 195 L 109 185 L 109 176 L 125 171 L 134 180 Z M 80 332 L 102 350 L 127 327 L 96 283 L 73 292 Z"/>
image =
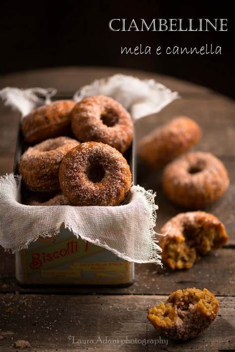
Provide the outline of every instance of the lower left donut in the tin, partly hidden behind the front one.
<path id="1" fill-rule="evenodd" d="M 30 147 L 21 156 L 19 172 L 29 190 L 50 192 L 59 189 L 59 165 L 64 155 L 79 144 L 69 137 L 47 139 Z"/>

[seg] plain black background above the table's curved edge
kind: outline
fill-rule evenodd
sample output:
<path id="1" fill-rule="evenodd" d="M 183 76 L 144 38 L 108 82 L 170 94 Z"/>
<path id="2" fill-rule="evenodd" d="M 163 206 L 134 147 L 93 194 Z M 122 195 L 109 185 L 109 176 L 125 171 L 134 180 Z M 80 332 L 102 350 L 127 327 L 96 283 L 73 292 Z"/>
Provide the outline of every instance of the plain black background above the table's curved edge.
<path id="1" fill-rule="evenodd" d="M 50 66 L 150 70 L 234 97 L 233 1 L 1 1 L 0 74 Z M 113 32 L 112 18 L 228 18 L 228 32 Z M 222 55 L 121 55 L 121 46 L 222 47 Z"/>

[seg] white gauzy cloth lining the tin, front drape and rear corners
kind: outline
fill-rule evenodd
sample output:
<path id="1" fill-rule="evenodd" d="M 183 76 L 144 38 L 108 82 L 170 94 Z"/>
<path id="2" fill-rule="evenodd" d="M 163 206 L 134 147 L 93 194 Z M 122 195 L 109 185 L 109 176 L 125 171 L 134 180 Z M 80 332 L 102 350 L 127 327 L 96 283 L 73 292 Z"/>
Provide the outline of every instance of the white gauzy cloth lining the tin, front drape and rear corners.
<path id="1" fill-rule="evenodd" d="M 55 93 L 54 88 L 6 87 L 0 90 L 0 97 L 25 116 L 33 108 L 50 103 Z M 159 112 L 178 98 L 176 92 L 154 80 L 118 74 L 82 87 L 73 99 L 99 94 L 116 99 L 133 119 Z M 120 258 L 162 265 L 154 231 L 158 206 L 151 190 L 132 186 L 125 204 L 116 207 L 29 206 L 20 203 L 20 184 L 18 175 L 0 177 L 0 245 L 5 250 L 27 248 L 39 236 L 55 235 L 64 224 L 76 237 L 107 248 Z"/>

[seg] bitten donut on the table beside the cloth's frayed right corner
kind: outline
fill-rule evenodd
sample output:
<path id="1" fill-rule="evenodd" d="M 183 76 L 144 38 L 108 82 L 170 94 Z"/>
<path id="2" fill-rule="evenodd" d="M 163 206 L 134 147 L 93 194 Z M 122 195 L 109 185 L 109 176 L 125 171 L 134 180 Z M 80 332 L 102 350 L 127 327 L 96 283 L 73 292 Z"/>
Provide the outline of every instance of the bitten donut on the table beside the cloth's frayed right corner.
<path id="1" fill-rule="evenodd" d="M 228 235 L 222 222 L 202 211 L 181 213 L 161 229 L 162 259 L 171 269 L 188 269 L 211 249 L 226 244 Z"/>

